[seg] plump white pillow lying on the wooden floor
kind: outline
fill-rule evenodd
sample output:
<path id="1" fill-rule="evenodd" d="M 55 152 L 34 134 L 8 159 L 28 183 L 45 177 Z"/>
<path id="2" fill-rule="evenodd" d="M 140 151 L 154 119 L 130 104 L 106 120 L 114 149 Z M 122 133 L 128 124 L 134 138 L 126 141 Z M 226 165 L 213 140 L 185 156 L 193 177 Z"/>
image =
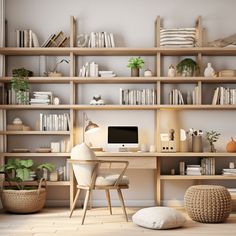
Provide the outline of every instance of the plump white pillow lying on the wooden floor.
<path id="1" fill-rule="evenodd" d="M 149 229 L 172 229 L 183 226 L 185 217 L 170 207 L 148 207 L 137 211 L 132 220 Z"/>

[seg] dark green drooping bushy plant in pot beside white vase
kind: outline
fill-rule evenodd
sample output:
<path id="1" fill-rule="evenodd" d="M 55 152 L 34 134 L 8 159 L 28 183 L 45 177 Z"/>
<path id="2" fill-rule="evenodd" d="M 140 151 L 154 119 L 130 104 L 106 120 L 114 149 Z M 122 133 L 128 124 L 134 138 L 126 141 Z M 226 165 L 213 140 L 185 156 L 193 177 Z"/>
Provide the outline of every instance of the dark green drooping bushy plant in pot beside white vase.
<path id="1" fill-rule="evenodd" d="M 198 75 L 199 66 L 197 62 L 195 62 L 193 59 L 185 58 L 176 66 L 176 70 L 177 70 L 178 75 L 180 76 L 192 77 L 192 76 Z"/>

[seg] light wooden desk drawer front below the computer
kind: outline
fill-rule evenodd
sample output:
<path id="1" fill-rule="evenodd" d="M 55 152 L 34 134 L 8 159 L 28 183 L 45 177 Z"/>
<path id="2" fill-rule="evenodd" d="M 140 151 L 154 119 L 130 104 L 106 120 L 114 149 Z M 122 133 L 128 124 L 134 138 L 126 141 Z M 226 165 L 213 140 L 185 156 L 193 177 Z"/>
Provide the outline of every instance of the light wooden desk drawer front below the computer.
<path id="1" fill-rule="evenodd" d="M 156 157 L 99 157 L 104 161 L 128 161 L 128 169 L 156 169 Z M 123 164 L 112 164 L 112 169 L 123 168 Z M 109 168 L 109 164 L 103 164 L 101 168 Z"/>

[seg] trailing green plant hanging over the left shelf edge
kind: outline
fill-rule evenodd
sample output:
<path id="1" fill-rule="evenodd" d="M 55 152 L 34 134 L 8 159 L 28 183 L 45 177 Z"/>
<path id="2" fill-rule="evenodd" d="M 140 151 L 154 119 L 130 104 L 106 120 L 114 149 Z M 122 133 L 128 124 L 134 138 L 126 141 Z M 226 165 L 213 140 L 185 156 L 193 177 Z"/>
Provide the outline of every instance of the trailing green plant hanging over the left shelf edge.
<path id="1" fill-rule="evenodd" d="M 11 88 L 16 92 L 17 104 L 29 103 L 29 76 L 33 75 L 32 71 L 25 68 L 14 69 L 12 71 Z"/>

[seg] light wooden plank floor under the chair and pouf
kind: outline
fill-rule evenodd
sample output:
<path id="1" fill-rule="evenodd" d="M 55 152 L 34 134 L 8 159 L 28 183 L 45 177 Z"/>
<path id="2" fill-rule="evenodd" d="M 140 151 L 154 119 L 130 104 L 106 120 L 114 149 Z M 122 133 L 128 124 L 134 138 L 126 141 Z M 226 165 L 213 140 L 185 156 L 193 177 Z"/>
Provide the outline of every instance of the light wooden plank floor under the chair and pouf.
<path id="1" fill-rule="evenodd" d="M 83 226 L 80 225 L 81 210 L 76 210 L 72 219 L 68 218 L 69 211 L 65 208 L 47 208 L 40 213 L 29 215 L 0 212 L 0 236 L 236 235 L 236 214 L 231 214 L 228 221 L 223 224 L 201 224 L 187 217 L 188 221 L 184 228 L 154 231 L 138 227 L 131 222 L 131 216 L 138 210 L 137 208 L 127 209 L 130 220 L 128 223 L 124 221 L 121 208 L 113 209 L 112 216 L 106 208 L 94 208 L 88 211 Z"/>

